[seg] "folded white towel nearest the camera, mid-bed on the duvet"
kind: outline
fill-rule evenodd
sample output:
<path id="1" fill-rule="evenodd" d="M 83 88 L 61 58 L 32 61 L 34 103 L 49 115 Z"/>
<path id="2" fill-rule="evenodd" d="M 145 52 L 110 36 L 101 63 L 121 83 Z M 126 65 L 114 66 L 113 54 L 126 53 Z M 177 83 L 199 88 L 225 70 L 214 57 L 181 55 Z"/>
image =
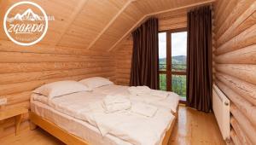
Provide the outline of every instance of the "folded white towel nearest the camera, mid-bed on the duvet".
<path id="1" fill-rule="evenodd" d="M 117 111 L 130 109 L 131 102 L 126 96 L 108 95 L 103 99 L 102 107 L 105 109 L 106 113 L 114 113 Z"/>

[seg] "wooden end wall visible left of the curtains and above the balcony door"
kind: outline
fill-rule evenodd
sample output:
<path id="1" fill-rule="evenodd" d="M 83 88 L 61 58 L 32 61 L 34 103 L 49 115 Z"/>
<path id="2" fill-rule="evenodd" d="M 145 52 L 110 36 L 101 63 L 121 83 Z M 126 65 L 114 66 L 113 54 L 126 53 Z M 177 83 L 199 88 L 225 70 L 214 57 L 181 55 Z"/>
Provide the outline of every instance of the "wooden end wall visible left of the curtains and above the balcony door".
<path id="1" fill-rule="evenodd" d="M 181 9 L 172 13 L 159 14 L 159 30 L 170 30 L 187 27 L 187 10 Z M 132 37 L 129 36 L 114 51 L 116 84 L 129 85 L 131 73 Z"/>

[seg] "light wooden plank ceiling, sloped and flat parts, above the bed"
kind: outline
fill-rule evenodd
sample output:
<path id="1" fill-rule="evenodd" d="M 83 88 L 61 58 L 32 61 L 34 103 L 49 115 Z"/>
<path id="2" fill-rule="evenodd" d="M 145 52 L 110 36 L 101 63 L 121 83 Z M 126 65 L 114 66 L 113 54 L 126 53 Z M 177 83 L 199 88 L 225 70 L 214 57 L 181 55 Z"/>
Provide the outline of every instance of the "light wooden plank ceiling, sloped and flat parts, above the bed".
<path id="1" fill-rule="evenodd" d="M 40 42 L 51 47 L 112 50 L 148 16 L 214 0 L 33 0 L 48 15 L 49 29 Z M 0 17 L 19 0 L 0 0 Z M 0 25 L 0 39 L 6 39 Z"/>

